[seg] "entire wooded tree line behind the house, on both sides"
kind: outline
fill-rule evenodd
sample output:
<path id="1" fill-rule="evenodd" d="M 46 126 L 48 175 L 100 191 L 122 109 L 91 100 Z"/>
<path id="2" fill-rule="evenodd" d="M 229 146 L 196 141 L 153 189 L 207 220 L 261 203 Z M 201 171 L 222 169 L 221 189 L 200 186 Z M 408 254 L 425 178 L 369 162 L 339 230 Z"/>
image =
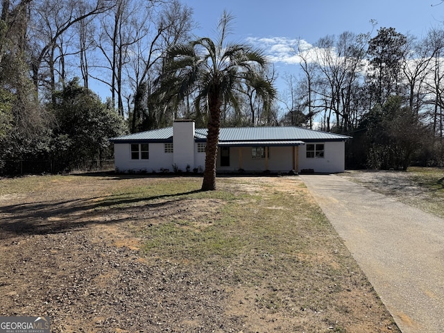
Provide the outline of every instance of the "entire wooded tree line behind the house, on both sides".
<path id="1" fill-rule="evenodd" d="M 159 89 L 167 50 L 193 40 L 195 27 L 179 0 L 2 0 L 0 172 L 17 160 L 49 160 L 51 171 L 82 167 L 110 154 L 109 137 L 178 117 L 207 126 L 200 92 Z M 443 37 L 439 29 L 417 38 L 380 28 L 301 41 L 284 103 L 268 94 L 276 79 L 268 70 L 223 100 L 221 126 L 321 122 L 354 137 L 349 167 L 442 163 Z M 97 82 L 109 89 L 105 103 L 90 89 Z"/>

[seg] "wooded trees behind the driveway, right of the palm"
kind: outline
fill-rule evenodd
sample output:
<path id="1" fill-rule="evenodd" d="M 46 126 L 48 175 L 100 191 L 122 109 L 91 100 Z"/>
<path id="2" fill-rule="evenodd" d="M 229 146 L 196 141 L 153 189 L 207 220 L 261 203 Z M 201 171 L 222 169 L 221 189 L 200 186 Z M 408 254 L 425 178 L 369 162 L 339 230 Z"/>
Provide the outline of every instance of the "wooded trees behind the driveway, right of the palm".
<path id="1" fill-rule="evenodd" d="M 322 130 L 352 136 L 348 167 L 444 163 L 443 30 L 345 32 L 295 52 L 300 75 L 286 77 L 281 123 L 311 128 L 318 119 Z"/>

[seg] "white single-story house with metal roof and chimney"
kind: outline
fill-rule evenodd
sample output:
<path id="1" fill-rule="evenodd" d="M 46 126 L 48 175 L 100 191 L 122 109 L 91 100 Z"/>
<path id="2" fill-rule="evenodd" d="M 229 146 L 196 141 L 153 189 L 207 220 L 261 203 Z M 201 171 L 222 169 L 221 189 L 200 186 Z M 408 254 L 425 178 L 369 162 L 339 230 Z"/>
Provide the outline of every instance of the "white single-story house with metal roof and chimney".
<path id="1" fill-rule="evenodd" d="M 216 170 L 343 172 L 348 139 L 295 126 L 221 128 Z M 172 127 L 114 137 L 110 142 L 120 172 L 202 172 L 206 140 L 206 128 L 176 120 Z"/>

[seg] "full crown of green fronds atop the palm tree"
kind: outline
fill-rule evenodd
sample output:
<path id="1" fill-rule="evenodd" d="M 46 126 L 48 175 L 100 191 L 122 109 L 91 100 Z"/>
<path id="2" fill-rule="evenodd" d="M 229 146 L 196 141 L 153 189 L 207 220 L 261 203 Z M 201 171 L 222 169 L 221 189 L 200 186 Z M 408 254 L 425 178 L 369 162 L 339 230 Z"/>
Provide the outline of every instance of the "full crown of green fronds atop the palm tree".
<path id="1" fill-rule="evenodd" d="M 268 103 L 277 92 L 273 81 L 268 80 L 267 59 L 264 52 L 248 44 L 226 42 L 234 17 L 223 12 L 219 22 L 219 39 L 200 37 L 187 44 L 171 46 L 164 61 L 164 73 L 157 80 L 164 101 L 185 99 L 196 93 L 194 104 L 196 117 L 208 112 L 208 99 L 228 103 L 240 112 L 241 94 L 253 89 L 256 96 Z M 216 92 L 216 95 L 214 94 Z"/>

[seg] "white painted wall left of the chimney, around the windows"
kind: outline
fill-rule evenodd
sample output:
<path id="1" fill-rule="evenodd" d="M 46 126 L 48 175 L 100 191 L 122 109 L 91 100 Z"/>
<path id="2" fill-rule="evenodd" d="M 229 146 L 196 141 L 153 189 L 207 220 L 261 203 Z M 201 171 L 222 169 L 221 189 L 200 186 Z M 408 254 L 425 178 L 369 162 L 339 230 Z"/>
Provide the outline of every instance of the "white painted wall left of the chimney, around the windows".
<path id="1" fill-rule="evenodd" d="M 131 144 L 114 144 L 114 167 L 118 171 L 173 171 L 173 154 L 165 153 L 164 144 L 148 144 L 148 160 L 131 160 Z M 185 170 L 185 169 L 184 169 Z"/>

